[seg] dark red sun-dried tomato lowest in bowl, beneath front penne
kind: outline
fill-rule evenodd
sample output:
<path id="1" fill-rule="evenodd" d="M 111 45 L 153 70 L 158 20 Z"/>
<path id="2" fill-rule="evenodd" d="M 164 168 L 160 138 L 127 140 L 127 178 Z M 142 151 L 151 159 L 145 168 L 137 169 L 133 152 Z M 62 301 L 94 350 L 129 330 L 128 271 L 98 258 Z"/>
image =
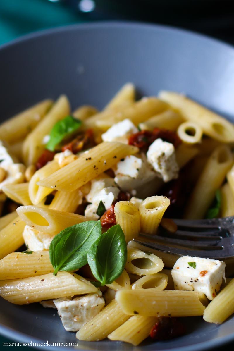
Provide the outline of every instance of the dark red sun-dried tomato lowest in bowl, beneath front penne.
<path id="1" fill-rule="evenodd" d="M 154 324 L 149 335 L 154 340 L 169 340 L 181 336 L 185 332 L 185 326 L 178 318 L 159 317 L 159 321 Z"/>

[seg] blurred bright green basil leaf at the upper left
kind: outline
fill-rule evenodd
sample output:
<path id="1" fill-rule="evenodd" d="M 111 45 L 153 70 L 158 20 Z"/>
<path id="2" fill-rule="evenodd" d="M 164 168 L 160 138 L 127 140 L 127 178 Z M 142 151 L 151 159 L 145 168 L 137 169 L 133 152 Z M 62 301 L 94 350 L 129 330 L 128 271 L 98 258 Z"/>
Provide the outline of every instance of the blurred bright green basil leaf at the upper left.
<path id="1" fill-rule="evenodd" d="M 54 151 L 55 147 L 71 133 L 75 132 L 81 124 L 82 122 L 79 119 L 75 119 L 72 116 L 67 116 L 55 123 L 49 134 L 49 141 L 46 144 L 46 148 Z"/>

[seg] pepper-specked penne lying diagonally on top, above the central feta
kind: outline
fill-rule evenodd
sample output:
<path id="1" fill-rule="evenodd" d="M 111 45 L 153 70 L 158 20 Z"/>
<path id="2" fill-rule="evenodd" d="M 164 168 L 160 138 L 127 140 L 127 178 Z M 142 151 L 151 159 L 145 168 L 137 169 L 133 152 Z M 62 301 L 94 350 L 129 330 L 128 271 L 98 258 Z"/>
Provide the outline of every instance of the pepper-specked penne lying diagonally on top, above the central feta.
<path id="1" fill-rule="evenodd" d="M 71 164 L 39 181 L 38 185 L 60 191 L 73 191 L 113 167 L 122 158 L 136 152 L 137 147 L 117 141 L 101 143 Z"/>

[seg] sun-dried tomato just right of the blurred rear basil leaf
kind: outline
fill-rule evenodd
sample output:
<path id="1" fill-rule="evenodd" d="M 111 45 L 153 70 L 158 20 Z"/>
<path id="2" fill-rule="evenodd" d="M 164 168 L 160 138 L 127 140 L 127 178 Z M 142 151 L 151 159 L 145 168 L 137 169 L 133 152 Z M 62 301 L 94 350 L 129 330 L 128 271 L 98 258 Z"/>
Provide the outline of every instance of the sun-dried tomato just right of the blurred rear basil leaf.
<path id="1" fill-rule="evenodd" d="M 94 135 L 92 129 L 87 129 L 84 133 L 79 134 L 70 143 L 62 147 L 62 151 L 70 150 L 74 154 L 82 151 L 84 148 L 95 146 Z"/>

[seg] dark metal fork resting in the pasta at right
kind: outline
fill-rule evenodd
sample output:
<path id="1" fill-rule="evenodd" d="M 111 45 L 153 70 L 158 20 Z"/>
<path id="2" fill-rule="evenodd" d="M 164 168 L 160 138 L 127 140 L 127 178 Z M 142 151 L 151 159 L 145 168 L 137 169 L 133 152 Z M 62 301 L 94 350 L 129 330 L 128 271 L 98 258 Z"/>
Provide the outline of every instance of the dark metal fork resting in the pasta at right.
<path id="1" fill-rule="evenodd" d="M 234 216 L 215 219 L 173 219 L 178 226 L 175 233 L 162 228 L 157 235 L 140 233 L 136 243 L 179 256 L 212 259 L 234 257 Z"/>

